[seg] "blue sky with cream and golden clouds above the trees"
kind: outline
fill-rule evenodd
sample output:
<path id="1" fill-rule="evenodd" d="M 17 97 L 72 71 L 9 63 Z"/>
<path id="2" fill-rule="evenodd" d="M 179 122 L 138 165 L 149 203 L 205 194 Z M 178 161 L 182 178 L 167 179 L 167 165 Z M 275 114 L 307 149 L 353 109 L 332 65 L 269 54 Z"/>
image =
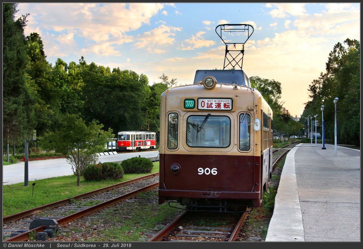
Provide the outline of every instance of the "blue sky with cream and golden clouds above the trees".
<path id="1" fill-rule="evenodd" d="M 17 10 L 16 18 L 30 14 L 24 34 L 40 35 L 53 66 L 83 56 L 87 64 L 144 74 L 149 85 L 163 74 L 189 85 L 196 70 L 223 69 L 216 28 L 248 24 L 247 40 L 222 38 L 244 43 L 246 75 L 280 82 L 282 106 L 298 118 L 334 45 L 360 41 L 360 3 L 19 3 Z"/>

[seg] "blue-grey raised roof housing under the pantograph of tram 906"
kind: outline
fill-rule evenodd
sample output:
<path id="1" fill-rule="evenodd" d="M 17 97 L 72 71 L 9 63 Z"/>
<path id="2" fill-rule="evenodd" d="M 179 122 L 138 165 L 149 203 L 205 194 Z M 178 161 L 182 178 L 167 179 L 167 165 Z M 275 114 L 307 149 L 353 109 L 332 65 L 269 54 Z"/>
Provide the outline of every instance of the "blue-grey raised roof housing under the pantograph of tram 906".
<path id="1" fill-rule="evenodd" d="M 197 70 L 194 81 L 203 81 L 206 76 L 213 76 L 217 83 L 250 87 L 249 78 L 243 70 Z"/>

